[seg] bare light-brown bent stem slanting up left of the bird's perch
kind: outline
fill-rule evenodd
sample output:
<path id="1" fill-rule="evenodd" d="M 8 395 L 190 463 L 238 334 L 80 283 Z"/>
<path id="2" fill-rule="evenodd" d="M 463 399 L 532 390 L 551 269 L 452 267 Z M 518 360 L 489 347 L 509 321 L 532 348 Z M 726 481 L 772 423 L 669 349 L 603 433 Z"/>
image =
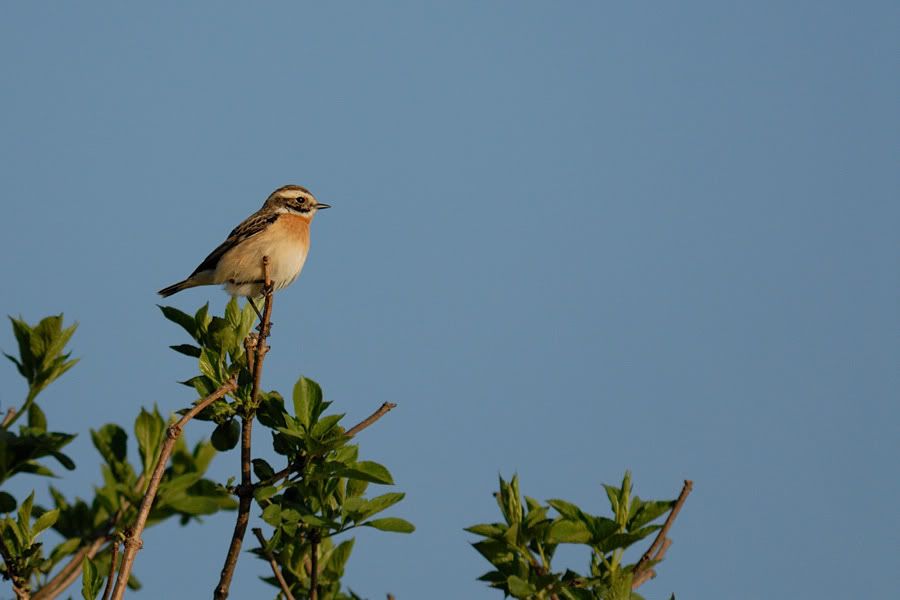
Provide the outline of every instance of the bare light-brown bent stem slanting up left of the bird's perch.
<path id="1" fill-rule="evenodd" d="M 131 576 L 131 568 L 134 566 L 134 559 L 137 556 L 137 551 L 140 550 L 143 545 L 141 533 L 147 525 L 147 518 L 150 516 L 150 509 L 153 507 L 153 501 L 156 499 L 159 482 L 162 480 L 163 473 L 166 470 L 166 463 L 169 462 L 169 456 L 171 456 L 172 450 L 175 448 L 175 442 L 181 436 L 182 428 L 204 408 L 216 400 L 219 400 L 225 394 L 233 392 L 235 389 L 237 389 L 237 381 L 232 377 L 222 387 L 184 413 L 176 423 L 169 426 L 169 429 L 166 432 L 166 441 L 163 442 L 163 445 L 160 448 L 156 467 L 153 469 L 153 475 L 150 477 L 150 482 L 147 484 L 147 491 L 144 494 L 144 498 L 141 500 L 141 506 L 138 509 L 134 525 L 128 531 L 125 538 L 125 550 L 122 553 L 122 567 L 119 569 L 119 576 L 116 579 L 116 586 L 113 589 L 113 600 L 121 600 L 125 595 L 125 587 L 128 585 L 128 578 Z"/>

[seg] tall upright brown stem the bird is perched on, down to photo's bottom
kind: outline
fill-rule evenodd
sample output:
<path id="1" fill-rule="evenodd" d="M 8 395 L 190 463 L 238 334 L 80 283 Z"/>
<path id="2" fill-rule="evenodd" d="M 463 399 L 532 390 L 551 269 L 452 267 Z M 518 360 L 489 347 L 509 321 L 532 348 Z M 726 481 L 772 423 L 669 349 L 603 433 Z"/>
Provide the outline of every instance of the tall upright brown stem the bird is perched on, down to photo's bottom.
<path id="1" fill-rule="evenodd" d="M 231 544 L 228 546 L 228 553 L 225 555 L 225 565 L 222 567 L 222 573 L 219 576 L 219 584 L 216 586 L 213 598 L 215 600 L 225 600 L 228 598 L 228 588 L 231 586 L 231 578 L 234 576 L 234 569 L 237 567 L 238 556 L 241 552 L 241 545 L 244 543 L 244 534 L 247 532 L 247 523 L 250 521 L 250 507 L 253 503 L 253 482 L 250 479 L 250 459 L 252 458 L 250 443 L 252 441 L 253 432 L 253 416 L 258 406 L 257 398 L 259 395 L 259 383 L 262 379 L 262 365 L 269 351 L 266 344 L 266 338 L 269 337 L 269 331 L 272 328 L 272 294 L 275 287 L 272 279 L 269 277 L 269 257 L 263 256 L 263 293 L 265 294 L 266 304 L 263 307 L 262 320 L 259 322 L 259 336 L 256 339 L 256 348 L 252 356 L 247 355 L 247 366 L 250 366 L 253 360 L 253 387 L 250 392 L 250 403 L 245 408 L 244 414 L 241 415 L 241 485 L 238 487 L 238 514 L 234 523 L 234 533 L 231 534 Z"/>

